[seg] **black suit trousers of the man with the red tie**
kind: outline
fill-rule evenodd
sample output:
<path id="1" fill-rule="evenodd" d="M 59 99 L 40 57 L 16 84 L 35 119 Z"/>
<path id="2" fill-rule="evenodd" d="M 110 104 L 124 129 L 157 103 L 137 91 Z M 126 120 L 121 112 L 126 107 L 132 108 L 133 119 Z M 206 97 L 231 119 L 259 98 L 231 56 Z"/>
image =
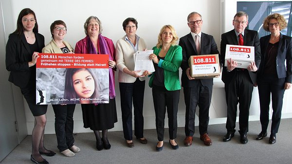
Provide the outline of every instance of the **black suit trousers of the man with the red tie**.
<path id="1" fill-rule="evenodd" d="M 235 70 L 236 71 L 236 70 Z M 248 132 L 249 108 L 252 101 L 254 84 L 248 70 L 237 71 L 229 84 L 225 84 L 227 121 L 226 129 L 235 132 L 237 104 L 239 103 L 239 133 Z"/>

